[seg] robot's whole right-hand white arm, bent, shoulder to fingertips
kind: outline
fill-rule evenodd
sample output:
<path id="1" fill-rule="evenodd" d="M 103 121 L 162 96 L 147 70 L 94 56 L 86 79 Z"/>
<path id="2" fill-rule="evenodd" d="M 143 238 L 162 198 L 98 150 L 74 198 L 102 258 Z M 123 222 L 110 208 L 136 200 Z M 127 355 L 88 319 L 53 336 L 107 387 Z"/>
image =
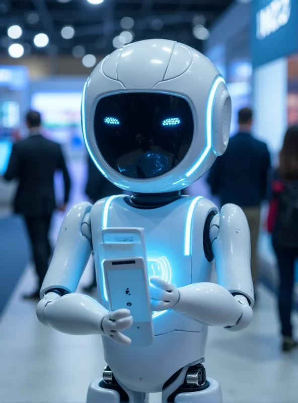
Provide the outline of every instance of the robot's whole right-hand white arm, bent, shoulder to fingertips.
<path id="1" fill-rule="evenodd" d="M 250 272 L 250 233 L 242 210 L 226 205 L 214 215 L 210 241 L 218 284 L 197 283 L 177 289 L 151 279 L 155 310 L 174 309 L 199 322 L 238 331 L 252 320 L 254 303 Z"/>

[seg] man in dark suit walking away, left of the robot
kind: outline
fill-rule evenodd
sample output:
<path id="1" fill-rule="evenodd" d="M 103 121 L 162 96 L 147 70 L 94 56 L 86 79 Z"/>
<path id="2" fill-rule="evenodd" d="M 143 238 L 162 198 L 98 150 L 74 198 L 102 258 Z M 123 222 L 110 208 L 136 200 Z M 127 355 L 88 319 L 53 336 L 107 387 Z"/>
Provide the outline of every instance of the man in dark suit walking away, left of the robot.
<path id="1" fill-rule="evenodd" d="M 37 290 L 25 298 L 39 298 L 39 290 L 48 269 L 51 247 L 48 232 L 53 211 L 56 209 L 54 173 L 62 171 L 64 178 L 64 211 L 70 190 L 70 178 L 59 144 L 41 135 L 41 116 L 30 111 L 26 115 L 30 136 L 14 144 L 5 179 L 18 179 L 14 201 L 16 214 L 25 218 L 32 244 L 38 277 Z"/>

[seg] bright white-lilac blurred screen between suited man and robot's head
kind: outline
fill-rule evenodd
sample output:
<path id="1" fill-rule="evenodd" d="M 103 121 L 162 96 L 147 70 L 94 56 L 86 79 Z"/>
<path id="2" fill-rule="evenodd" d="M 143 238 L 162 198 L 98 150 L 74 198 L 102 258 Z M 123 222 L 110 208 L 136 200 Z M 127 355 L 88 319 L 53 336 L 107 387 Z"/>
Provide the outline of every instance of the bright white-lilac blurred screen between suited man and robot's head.
<path id="1" fill-rule="evenodd" d="M 42 115 L 45 135 L 60 144 L 83 145 L 80 92 L 37 92 L 31 107 Z"/>

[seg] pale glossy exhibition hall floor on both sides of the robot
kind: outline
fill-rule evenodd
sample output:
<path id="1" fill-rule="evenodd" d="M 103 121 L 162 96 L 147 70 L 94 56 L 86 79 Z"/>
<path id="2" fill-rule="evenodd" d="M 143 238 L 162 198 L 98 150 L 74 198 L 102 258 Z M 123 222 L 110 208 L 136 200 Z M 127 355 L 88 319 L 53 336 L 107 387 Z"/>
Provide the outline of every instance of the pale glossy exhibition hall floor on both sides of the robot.
<path id="1" fill-rule="evenodd" d="M 28 268 L 0 322 L 0 402 L 85 403 L 89 383 L 104 367 L 101 339 L 42 326 L 36 303 L 21 299 L 32 284 Z M 280 353 L 275 301 L 262 287 L 247 330 L 210 328 L 205 366 L 220 382 L 225 403 L 298 401 L 298 351 Z M 158 402 L 152 395 L 151 403 Z"/>

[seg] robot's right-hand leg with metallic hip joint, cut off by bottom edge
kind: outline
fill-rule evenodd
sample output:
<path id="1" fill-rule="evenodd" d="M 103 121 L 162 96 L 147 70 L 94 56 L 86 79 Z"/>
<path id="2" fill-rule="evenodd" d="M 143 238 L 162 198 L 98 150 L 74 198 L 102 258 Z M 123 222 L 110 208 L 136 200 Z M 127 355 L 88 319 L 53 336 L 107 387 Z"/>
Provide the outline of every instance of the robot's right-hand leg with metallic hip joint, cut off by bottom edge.
<path id="1" fill-rule="evenodd" d="M 162 403 L 222 403 L 218 382 L 206 378 L 206 371 L 201 363 L 184 367 L 179 378 L 181 376 L 183 378 L 180 379 L 178 388 L 179 379 L 163 390 Z"/>

